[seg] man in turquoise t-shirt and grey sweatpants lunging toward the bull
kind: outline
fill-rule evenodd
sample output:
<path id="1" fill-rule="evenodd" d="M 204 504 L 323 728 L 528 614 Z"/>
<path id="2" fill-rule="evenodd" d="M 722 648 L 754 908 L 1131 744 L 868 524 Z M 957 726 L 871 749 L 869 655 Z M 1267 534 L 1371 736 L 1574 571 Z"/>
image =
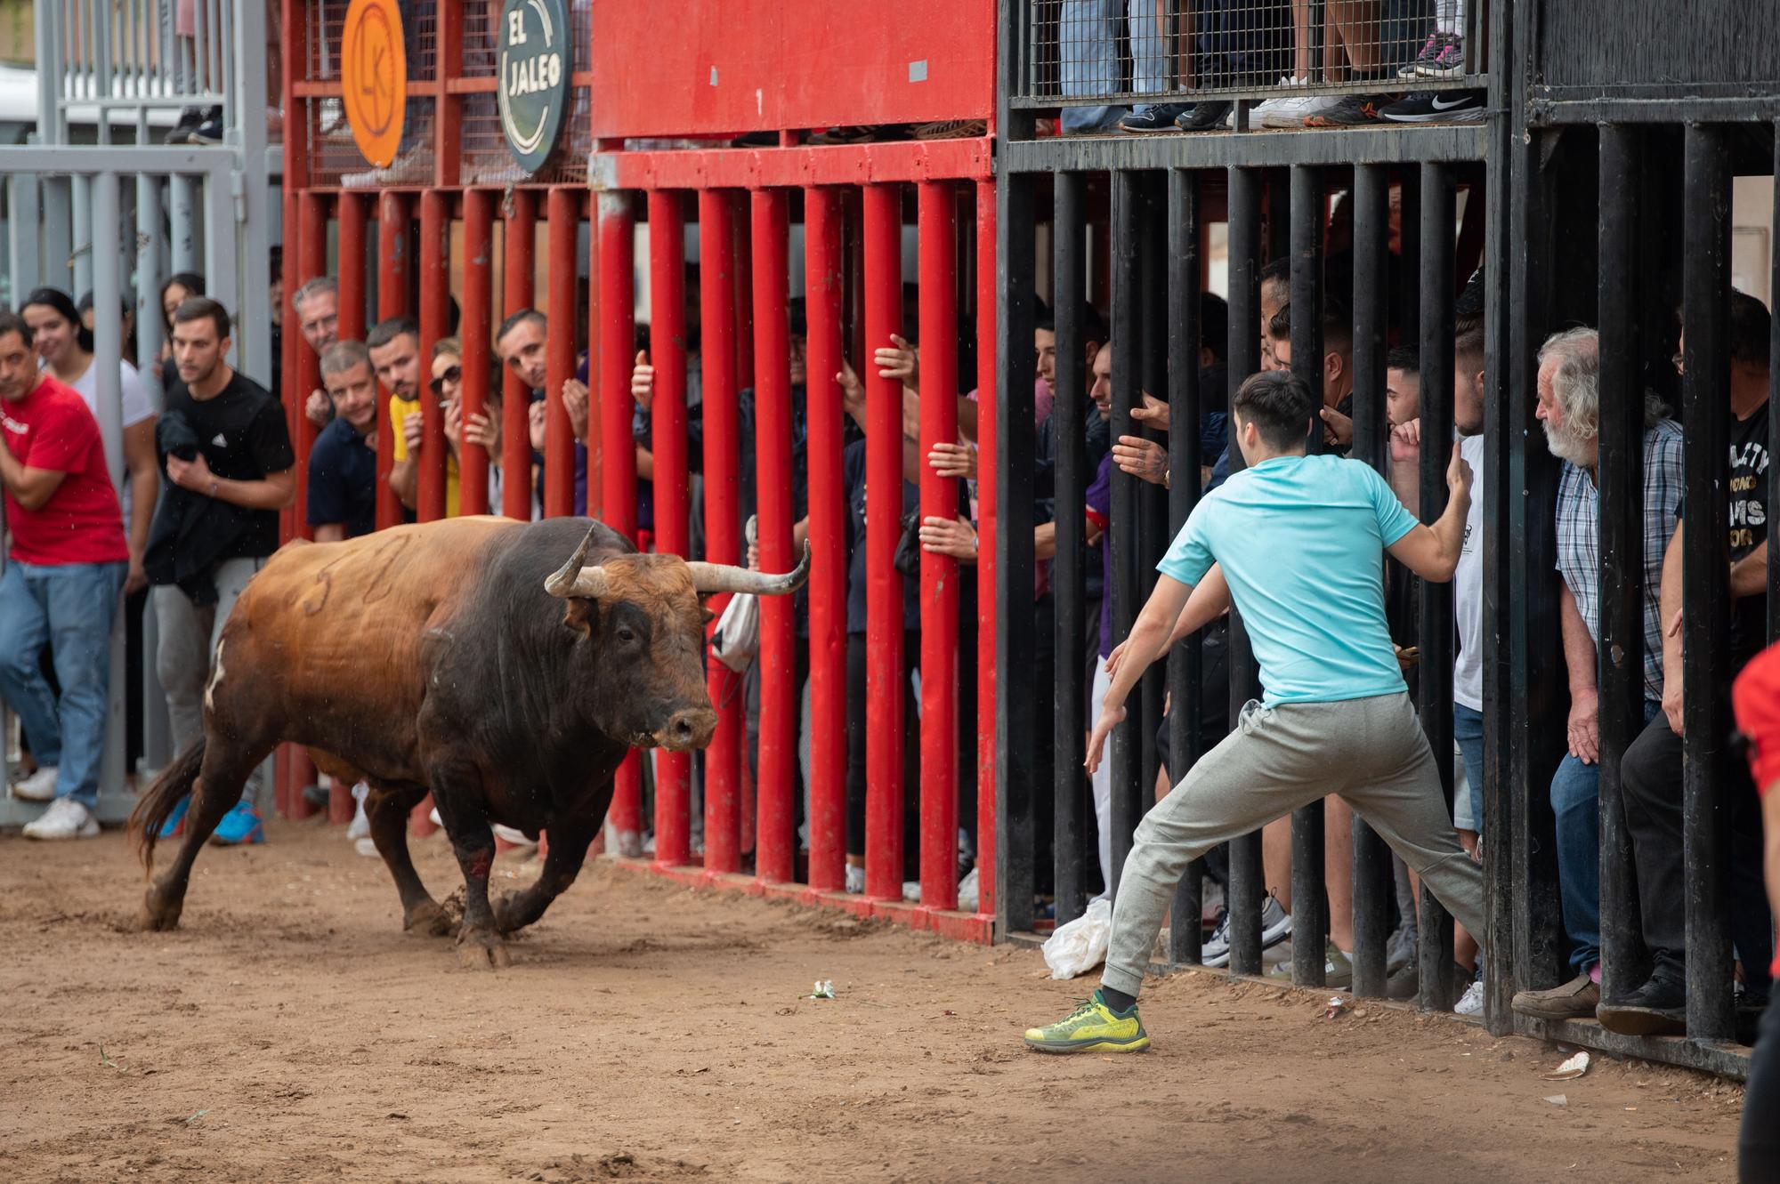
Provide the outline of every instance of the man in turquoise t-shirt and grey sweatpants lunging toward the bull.
<path id="1" fill-rule="evenodd" d="M 1137 992 L 1175 884 L 1210 848 L 1337 793 L 1422 875 L 1460 923 L 1483 933 L 1483 869 L 1452 832 L 1385 628 L 1385 551 L 1424 580 L 1458 565 L 1470 466 L 1452 448 L 1447 507 L 1424 526 L 1360 460 L 1305 455 L 1317 400 L 1289 372 L 1250 377 L 1232 404 L 1248 469 L 1193 510 L 1132 626 L 1088 740 L 1088 768 L 1125 718 L 1145 667 L 1234 599 L 1260 665 L 1262 702 L 1155 804 L 1132 836 L 1112 907 L 1100 990 L 1031 1028 L 1045 1052 L 1137 1052 L 1150 1036 Z"/>

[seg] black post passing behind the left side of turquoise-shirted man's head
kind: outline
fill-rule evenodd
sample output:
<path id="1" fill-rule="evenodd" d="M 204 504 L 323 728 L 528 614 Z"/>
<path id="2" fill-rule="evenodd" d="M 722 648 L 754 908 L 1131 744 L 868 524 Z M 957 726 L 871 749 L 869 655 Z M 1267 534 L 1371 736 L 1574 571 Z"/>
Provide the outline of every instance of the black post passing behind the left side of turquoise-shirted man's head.
<path id="1" fill-rule="evenodd" d="M 1230 348 L 1228 398 L 1260 366 L 1260 174 L 1230 169 Z M 1230 423 L 1230 469 L 1242 468 Z M 1237 727 L 1242 704 L 1260 697 L 1255 656 L 1242 629 L 1242 615 L 1230 613 L 1230 725 Z M 1230 972 L 1260 974 L 1260 903 L 1266 892 L 1260 866 L 1260 832 L 1230 843 Z"/>

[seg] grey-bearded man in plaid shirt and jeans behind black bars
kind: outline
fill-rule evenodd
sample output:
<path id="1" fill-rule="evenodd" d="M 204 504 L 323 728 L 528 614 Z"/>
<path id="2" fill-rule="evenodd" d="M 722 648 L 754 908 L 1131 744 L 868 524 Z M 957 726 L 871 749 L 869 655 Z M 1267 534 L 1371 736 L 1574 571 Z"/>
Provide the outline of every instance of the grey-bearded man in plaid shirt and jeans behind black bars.
<path id="1" fill-rule="evenodd" d="M 1570 670 L 1568 752 L 1552 775 L 1558 889 L 1570 935 L 1568 983 L 1524 990 L 1513 1006 L 1540 1019 L 1590 1019 L 1600 1003 L 1600 338 L 1566 329 L 1540 347 L 1538 418 L 1563 460 L 1558 484 L 1559 624 Z M 1682 496 L 1680 427 L 1645 395 L 1645 720 L 1663 704 L 1663 551 Z"/>

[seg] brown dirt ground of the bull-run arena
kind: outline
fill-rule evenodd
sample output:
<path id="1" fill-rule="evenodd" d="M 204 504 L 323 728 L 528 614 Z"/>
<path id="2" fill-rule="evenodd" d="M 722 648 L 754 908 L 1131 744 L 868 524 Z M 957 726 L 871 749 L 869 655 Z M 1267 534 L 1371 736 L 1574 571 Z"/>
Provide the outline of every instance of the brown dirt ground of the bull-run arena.
<path id="1" fill-rule="evenodd" d="M 174 933 L 119 834 L 0 839 L 0 1177 L 36 1180 L 1607 1180 L 1734 1177 L 1741 1088 L 1214 974 L 1155 1047 L 1027 1052 L 1089 980 L 1036 951 L 596 864 L 465 971 L 383 864 L 272 823 Z M 438 896 L 441 837 L 417 843 Z M 497 860 L 497 880 L 532 869 Z M 838 999 L 799 999 L 812 980 Z M 1545 1099 L 1565 1095 L 1566 1104 Z"/>

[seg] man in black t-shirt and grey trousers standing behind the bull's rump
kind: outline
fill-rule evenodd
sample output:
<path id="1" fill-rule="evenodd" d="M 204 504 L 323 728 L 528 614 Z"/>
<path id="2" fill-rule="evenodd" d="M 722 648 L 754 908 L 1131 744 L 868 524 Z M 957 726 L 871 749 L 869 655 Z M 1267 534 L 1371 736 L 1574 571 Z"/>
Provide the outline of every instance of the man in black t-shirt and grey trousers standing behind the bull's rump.
<path id="1" fill-rule="evenodd" d="M 203 736 L 203 690 L 235 597 L 278 549 L 278 512 L 295 498 L 295 453 L 285 411 L 230 366 L 230 316 L 205 297 L 173 315 L 173 361 L 155 430 L 167 492 L 155 510 L 144 567 L 155 585 L 160 644 L 155 668 L 167 693 L 173 743 Z M 215 830 L 217 843 L 262 843 L 258 775 Z M 183 805 L 169 821 L 174 832 Z"/>

